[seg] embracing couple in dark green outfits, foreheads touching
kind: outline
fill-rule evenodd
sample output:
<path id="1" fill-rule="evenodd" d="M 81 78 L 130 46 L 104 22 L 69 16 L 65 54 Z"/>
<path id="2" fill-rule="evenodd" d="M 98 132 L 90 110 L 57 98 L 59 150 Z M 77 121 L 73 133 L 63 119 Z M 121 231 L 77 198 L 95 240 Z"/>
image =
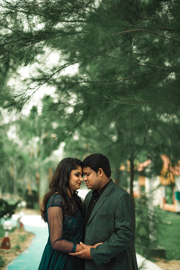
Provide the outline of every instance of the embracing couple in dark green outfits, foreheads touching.
<path id="1" fill-rule="evenodd" d="M 82 181 L 91 189 L 84 202 L 76 191 Z M 64 158 L 49 187 L 42 207 L 49 238 L 39 270 L 138 270 L 134 205 L 111 179 L 106 156 Z"/>

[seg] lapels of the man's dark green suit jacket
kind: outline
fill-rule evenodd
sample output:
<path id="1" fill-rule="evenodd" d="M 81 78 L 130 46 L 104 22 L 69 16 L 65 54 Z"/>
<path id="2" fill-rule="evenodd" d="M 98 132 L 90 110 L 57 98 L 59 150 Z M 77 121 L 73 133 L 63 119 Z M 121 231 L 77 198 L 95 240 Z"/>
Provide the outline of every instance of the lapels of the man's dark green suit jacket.
<path id="1" fill-rule="evenodd" d="M 104 201 L 106 201 L 106 196 L 108 196 L 112 190 L 112 188 L 114 187 L 114 182 L 113 180 L 108 184 L 107 188 L 104 190 L 103 194 L 100 196 L 99 200 L 97 201 L 96 205 L 94 206 L 94 209 L 89 217 L 89 220 L 87 222 L 87 225 L 89 224 L 89 222 L 92 220 L 92 218 L 94 217 L 94 215 L 96 214 L 96 212 L 99 210 L 99 208 L 101 207 L 101 205 L 104 203 Z M 91 200 L 91 197 L 90 196 L 90 200 Z M 89 200 L 89 203 L 90 203 L 90 200 Z M 88 206 L 89 206 L 89 203 L 88 203 Z M 87 207 L 88 207 L 87 206 Z M 87 211 L 87 209 L 86 209 Z"/>

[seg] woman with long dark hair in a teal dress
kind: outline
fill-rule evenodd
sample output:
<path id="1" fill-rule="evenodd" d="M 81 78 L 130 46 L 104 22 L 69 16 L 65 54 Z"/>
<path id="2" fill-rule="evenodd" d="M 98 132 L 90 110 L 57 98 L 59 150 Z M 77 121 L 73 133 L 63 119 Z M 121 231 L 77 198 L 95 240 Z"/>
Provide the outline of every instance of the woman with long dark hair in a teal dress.
<path id="1" fill-rule="evenodd" d="M 85 269 L 84 259 L 70 256 L 78 252 L 83 232 L 83 202 L 77 195 L 83 181 L 82 163 L 64 158 L 58 164 L 50 191 L 43 198 L 42 219 L 47 222 L 49 238 L 38 270 Z"/>

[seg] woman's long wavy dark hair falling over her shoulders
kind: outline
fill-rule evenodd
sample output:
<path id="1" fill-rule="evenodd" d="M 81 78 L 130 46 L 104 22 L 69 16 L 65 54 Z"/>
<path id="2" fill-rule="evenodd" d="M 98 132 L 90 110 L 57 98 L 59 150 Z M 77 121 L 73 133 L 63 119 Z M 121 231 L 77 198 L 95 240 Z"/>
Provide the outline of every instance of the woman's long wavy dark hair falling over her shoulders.
<path id="1" fill-rule="evenodd" d="M 52 177 L 52 180 L 49 184 L 50 191 L 47 192 L 43 197 L 43 203 L 42 203 L 42 219 L 47 222 L 46 219 L 46 207 L 47 202 L 51 195 L 58 192 L 62 196 L 63 200 L 63 211 L 66 211 L 66 213 L 73 215 L 76 217 L 77 215 L 77 209 L 76 205 L 73 203 L 72 198 L 74 197 L 77 207 L 80 208 L 80 210 L 84 214 L 83 209 L 83 201 L 82 199 L 77 195 L 77 191 L 75 190 L 73 193 L 71 192 L 71 198 L 67 194 L 67 187 L 69 187 L 69 179 L 70 174 L 72 170 L 76 170 L 79 166 L 82 166 L 81 160 L 77 158 L 64 158 L 60 161 L 58 164 L 56 171 Z"/>

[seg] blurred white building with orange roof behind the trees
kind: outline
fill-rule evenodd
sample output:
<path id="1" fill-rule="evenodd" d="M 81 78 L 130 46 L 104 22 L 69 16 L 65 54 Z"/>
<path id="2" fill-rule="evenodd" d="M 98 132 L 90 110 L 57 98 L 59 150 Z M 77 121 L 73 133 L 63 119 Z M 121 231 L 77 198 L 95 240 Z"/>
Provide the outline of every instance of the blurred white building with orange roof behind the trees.
<path id="1" fill-rule="evenodd" d="M 138 177 L 139 190 L 135 189 L 135 197 L 141 194 L 151 194 L 153 205 L 167 211 L 180 212 L 180 161 L 172 167 L 169 158 L 161 156 L 163 166 L 159 176 L 148 178 Z M 137 170 L 140 172 L 151 164 L 151 160 L 139 164 Z"/>

